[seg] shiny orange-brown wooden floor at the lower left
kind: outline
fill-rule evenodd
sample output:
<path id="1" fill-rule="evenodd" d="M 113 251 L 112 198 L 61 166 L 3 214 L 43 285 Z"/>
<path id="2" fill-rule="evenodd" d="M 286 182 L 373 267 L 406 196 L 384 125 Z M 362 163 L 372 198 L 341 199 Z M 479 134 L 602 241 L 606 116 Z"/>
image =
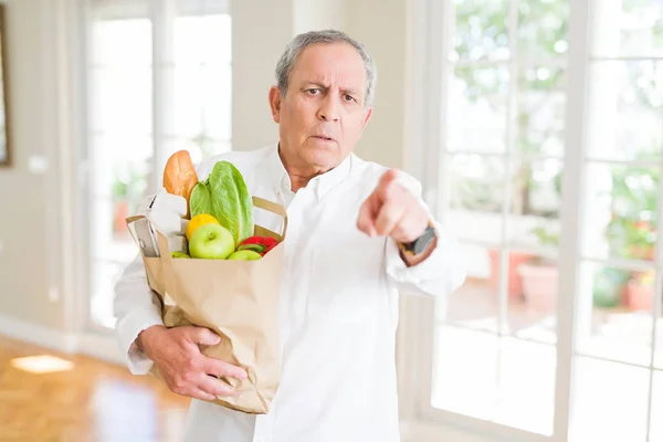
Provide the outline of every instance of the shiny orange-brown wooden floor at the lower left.
<path id="1" fill-rule="evenodd" d="M 17 367 L 20 358 L 43 355 L 73 367 L 49 373 Z M 0 337 L 2 442 L 175 442 L 188 404 L 151 376 Z"/>

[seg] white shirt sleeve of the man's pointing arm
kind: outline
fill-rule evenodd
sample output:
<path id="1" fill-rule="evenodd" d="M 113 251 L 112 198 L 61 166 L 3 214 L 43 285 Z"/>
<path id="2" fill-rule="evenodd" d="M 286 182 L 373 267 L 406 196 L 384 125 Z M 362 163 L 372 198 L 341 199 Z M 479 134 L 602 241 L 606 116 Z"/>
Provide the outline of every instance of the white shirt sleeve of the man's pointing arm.
<path id="1" fill-rule="evenodd" d="M 421 198 L 421 185 L 412 177 L 402 175 L 399 183 L 419 199 L 427 211 L 430 210 Z M 387 239 L 386 272 L 399 292 L 424 296 L 445 296 L 465 282 L 466 265 L 459 242 L 440 222 L 433 220 L 438 243 L 422 262 L 408 267 L 394 240 Z"/>

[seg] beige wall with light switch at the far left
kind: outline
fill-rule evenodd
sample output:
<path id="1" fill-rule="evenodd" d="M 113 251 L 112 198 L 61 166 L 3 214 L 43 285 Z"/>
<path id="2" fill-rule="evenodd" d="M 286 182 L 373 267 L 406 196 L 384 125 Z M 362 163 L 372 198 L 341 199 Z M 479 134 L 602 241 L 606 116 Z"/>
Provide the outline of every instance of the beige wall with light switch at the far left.
<path id="1" fill-rule="evenodd" d="M 69 330 L 62 220 L 69 109 L 61 0 L 7 4 L 9 120 L 13 166 L 0 169 L 0 323 L 20 319 Z"/>

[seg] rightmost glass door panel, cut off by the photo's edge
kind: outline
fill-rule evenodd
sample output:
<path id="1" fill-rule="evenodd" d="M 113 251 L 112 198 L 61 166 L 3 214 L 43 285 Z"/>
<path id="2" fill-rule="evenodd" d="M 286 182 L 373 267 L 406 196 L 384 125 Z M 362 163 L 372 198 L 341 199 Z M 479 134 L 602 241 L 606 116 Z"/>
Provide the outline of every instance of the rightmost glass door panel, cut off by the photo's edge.
<path id="1" fill-rule="evenodd" d="M 663 440 L 663 2 L 591 2 L 571 441 Z"/>

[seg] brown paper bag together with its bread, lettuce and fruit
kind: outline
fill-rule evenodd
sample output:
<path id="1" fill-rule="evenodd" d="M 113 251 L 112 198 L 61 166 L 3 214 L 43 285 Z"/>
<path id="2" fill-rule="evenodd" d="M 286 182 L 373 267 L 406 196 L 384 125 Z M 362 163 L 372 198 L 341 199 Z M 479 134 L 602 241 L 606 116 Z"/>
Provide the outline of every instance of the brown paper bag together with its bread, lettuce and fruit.
<path id="1" fill-rule="evenodd" d="M 221 336 L 219 344 L 202 352 L 242 367 L 248 379 L 220 378 L 241 393 L 214 402 L 266 413 L 281 378 L 278 296 L 285 209 L 251 197 L 242 175 L 228 161 L 218 161 L 199 181 L 186 150 L 168 159 L 164 188 L 182 197 L 177 201 L 186 201 L 181 217 L 165 222 L 175 228 L 165 229 L 143 215 L 127 219 L 149 286 L 161 299 L 164 324 L 208 327 Z M 282 217 L 281 233 L 254 224 L 259 209 Z M 156 367 L 152 373 L 159 377 Z"/>

